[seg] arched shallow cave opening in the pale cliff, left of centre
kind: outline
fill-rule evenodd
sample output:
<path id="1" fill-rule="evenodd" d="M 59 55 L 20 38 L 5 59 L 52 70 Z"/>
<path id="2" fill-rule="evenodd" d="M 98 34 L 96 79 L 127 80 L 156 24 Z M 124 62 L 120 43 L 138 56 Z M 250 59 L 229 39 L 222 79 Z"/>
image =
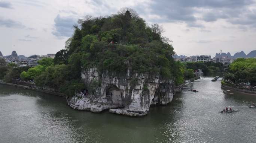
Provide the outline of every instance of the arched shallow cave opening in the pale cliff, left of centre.
<path id="1" fill-rule="evenodd" d="M 110 85 L 106 90 L 106 98 L 113 104 L 123 104 L 123 91 L 115 85 Z"/>

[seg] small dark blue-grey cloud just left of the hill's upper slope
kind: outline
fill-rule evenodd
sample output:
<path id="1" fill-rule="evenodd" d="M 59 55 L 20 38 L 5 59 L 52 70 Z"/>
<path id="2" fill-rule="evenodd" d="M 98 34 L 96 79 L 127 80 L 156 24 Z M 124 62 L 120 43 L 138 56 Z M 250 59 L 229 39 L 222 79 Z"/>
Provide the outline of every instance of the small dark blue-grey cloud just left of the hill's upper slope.
<path id="1" fill-rule="evenodd" d="M 57 15 L 54 22 L 55 30 L 52 32 L 53 35 L 57 37 L 70 37 L 73 34 L 73 25 L 77 23 L 77 19 L 73 16 L 60 17 L 60 15 Z"/>

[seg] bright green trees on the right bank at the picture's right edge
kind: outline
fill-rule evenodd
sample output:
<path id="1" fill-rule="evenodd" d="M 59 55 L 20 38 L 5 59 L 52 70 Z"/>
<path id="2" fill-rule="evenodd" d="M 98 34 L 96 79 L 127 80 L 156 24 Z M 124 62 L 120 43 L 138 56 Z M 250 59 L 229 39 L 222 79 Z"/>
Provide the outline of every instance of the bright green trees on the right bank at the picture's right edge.
<path id="1" fill-rule="evenodd" d="M 238 58 L 229 65 L 225 73 L 225 81 L 243 86 L 250 83 L 256 86 L 256 58 Z"/>

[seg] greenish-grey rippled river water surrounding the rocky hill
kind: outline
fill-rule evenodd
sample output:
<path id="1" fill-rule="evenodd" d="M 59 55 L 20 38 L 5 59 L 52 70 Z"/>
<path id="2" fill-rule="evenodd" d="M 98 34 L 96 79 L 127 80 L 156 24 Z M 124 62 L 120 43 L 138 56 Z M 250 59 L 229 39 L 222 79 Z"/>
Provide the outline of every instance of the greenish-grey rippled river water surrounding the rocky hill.
<path id="1" fill-rule="evenodd" d="M 145 117 L 75 111 L 54 95 L 0 85 L 0 143 L 255 143 L 256 96 L 199 79 Z M 240 112 L 219 113 L 233 105 Z"/>

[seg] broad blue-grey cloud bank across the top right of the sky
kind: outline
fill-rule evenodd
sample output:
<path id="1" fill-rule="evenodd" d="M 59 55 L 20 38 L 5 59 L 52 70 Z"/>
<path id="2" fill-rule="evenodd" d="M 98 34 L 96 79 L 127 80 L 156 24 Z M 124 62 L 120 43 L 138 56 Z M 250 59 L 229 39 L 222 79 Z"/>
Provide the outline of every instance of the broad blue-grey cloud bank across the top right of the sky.
<path id="1" fill-rule="evenodd" d="M 182 22 L 189 27 L 204 28 L 198 20 L 213 22 L 225 19 L 227 22 L 232 22 L 231 18 L 246 16 L 244 11 L 249 11 L 248 6 L 254 3 L 253 0 L 158 0 L 149 3 L 147 9 L 150 9 L 150 13 L 160 16 L 162 19 L 157 19 L 160 22 Z M 144 11 L 145 6 L 136 6 L 135 9 L 139 14 L 147 17 L 148 13 Z M 196 14 L 202 15 L 202 18 L 195 17 Z M 254 18 L 254 13 L 251 12 L 251 14 Z M 154 19 L 149 20 L 154 21 Z M 233 21 L 235 22 L 238 23 Z"/>

